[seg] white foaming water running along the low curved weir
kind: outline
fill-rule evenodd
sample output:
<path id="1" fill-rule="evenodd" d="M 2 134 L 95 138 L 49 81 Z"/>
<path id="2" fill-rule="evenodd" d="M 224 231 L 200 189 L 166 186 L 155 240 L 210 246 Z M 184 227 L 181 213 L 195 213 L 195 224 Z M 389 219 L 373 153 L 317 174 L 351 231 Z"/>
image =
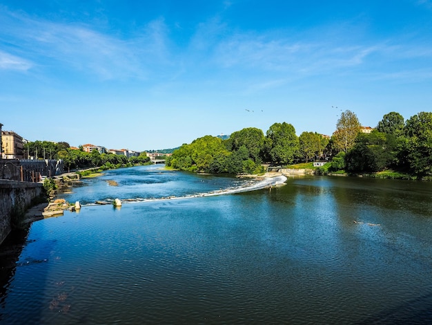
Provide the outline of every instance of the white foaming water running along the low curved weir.
<path id="1" fill-rule="evenodd" d="M 217 191 L 212 191 L 212 192 L 190 194 L 186 196 L 168 196 L 163 198 L 127 198 L 125 200 L 121 200 L 121 202 L 123 203 L 155 202 L 155 201 L 181 200 L 185 198 L 201 198 L 205 196 L 217 196 L 217 195 L 235 194 L 235 193 L 242 193 L 242 192 L 251 192 L 251 191 L 256 191 L 258 189 L 266 189 L 275 186 L 285 185 L 286 180 L 287 180 L 286 176 L 283 175 L 266 177 L 262 180 L 251 180 L 250 183 L 239 187 L 229 187 L 227 189 L 219 189 Z M 112 201 L 96 201 L 96 203 L 90 203 L 88 205 L 104 205 L 104 204 L 112 204 Z"/>

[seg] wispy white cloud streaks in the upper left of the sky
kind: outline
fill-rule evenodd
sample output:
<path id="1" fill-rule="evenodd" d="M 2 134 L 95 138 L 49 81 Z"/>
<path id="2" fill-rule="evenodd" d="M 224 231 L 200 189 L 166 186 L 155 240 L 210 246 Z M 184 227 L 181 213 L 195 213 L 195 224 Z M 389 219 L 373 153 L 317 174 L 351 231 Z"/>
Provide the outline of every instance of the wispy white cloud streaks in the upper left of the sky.
<path id="1" fill-rule="evenodd" d="M 1 8 L 0 8 L 1 9 Z M 101 79 L 146 78 L 166 57 L 163 21 L 151 21 L 134 39 L 98 32 L 83 24 L 63 24 L 3 10 L 8 20 L 0 39 L 10 50 L 32 58 L 40 68 L 81 71 Z M 1 67 L 30 68 L 28 59 L 0 53 Z"/>

